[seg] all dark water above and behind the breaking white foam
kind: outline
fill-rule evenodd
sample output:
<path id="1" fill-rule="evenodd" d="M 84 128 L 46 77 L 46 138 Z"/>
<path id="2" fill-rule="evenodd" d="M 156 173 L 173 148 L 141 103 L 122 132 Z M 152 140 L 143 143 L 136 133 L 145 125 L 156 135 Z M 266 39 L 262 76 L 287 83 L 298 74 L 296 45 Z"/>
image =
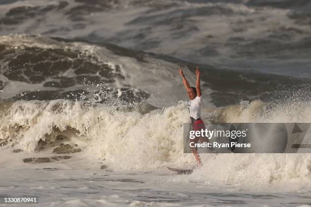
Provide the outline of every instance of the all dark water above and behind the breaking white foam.
<path id="1" fill-rule="evenodd" d="M 184 98 L 177 68 L 199 65 L 215 106 L 307 101 L 310 10 L 303 0 L 2 1 L 0 97 L 170 106 Z"/>

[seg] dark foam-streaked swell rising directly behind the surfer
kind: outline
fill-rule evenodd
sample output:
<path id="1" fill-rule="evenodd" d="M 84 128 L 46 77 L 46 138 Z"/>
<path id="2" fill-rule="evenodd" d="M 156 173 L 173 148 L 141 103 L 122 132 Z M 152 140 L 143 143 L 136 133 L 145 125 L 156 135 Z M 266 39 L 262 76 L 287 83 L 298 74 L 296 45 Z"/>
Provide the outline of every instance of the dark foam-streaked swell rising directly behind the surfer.
<path id="1" fill-rule="evenodd" d="M 148 101 L 157 107 L 185 98 L 179 66 L 195 83 L 196 64 L 166 55 L 11 34 L 0 39 L 0 97 L 11 100 L 83 100 L 110 105 Z M 205 64 L 201 68 L 204 106 L 228 106 L 243 100 L 308 101 L 308 77 L 287 77 Z"/>

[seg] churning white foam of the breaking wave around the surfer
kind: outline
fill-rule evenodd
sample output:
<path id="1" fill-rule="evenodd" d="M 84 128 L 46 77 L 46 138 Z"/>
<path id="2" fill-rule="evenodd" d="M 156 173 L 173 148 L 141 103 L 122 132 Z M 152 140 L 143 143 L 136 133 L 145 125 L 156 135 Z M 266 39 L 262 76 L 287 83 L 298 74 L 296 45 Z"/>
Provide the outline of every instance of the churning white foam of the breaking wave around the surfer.
<path id="1" fill-rule="evenodd" d="M 261 108 L 258 107 L 260 104 Z M 257 105 L 256 110 L 253 110 L 254 105 Z M 240 121 L 310 121 L 310 116 L 305 116 L 309 105 L 301 104 L 299 107 L 304 110 L 291 112 L 296 114 L 295 117 L 288 113 L 292 110 L 288 106 L 270 111 L 271 114 L 266 116 L 264 106 L 263 102 L 252 102 L 238 109 L 215 109 L 218 110 L 216 113 L 206 109 L 202 118 L 216 116 L 215 119 L 221 117 L 227 122 L 232 121 L 230 114 L 224 116 L 225 111 L 230 109 L 236 111 L 233 113 L 235 116 L 240 114 Z M 254 116 L 254 113 L 257 115 Z M 188 121 L 187 114 L 185 102 L 141 115 L 136 111 L 116 110 L 116 107 L 87 107 L 71 101 L 17 101 L 2 119 L 1 139 L 10 136 L 14 140 L 14 148 L 23 147 L 31 152 L 40 139 L 45 139 L 45 134 L 53 133 L 53 128 L 60 131 L 72 128 L 77 130 L 71 138 L 73 143 L 80 139 L 79 146 L 84 146 L 83 151 L 92 160 L 96 157 L 104 159 L 110 169 L 191 167 L 194 164 L 193 155 L 183 154 L 182 123 Z M 263 115 L 262 119 L 254 119 L 260 115 Z M 268 118 L 264 120 L 264 116 Z M 22 126 L 22 129 L 19 133 L 10 133 L 10 126 Z M 85 145 L 81 144 L 83 142 Z M 48 150 L 45 152 L 49 153 Z M 310 190 L 309 154 L 202 154 L 202 159 L 204 167 L 193 175 L 168 179 L 167 182 L 203 182 L 233 191 Z"/>

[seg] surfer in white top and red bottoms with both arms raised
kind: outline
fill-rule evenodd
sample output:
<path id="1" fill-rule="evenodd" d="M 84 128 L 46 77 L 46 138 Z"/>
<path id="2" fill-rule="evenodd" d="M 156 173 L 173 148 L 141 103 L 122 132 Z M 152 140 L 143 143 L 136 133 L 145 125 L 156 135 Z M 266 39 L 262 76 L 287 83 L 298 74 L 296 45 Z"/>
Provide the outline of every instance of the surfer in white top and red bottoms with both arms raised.
<path id="1" fill-rule="evenodd" d="M 185 76 L 183 75 L 183 72 L 181 68 L 179 67 L 179 74 L 182 78 L 182 83 L 184 87 L 186 88 L 188 92 L 189 102 L 188 102 L 188 110 L 191 118 L 191 125 L 192 130 L 201 130 L 205 129 L 205 125 L 201 119 L 201 105 L 202 105 L 202 92 L 200 88 L 200 71 L 197 66 L 196 75 L 197 75 L 197 81 L 196 81 L 196 87 L 190 87 L 188 81 L 186 80 Z M 194 143 L 198 143 L 200 138 L 203 139 L 203 137 L 195 137 L 195 139 L 192 140 Z M 198 166 L 202 166 L 202 161 L 200 159 L 200 155 L 198 153 L 198 149 L 196 147 L 192 147 L 192 152 L 198 162 Z"/>

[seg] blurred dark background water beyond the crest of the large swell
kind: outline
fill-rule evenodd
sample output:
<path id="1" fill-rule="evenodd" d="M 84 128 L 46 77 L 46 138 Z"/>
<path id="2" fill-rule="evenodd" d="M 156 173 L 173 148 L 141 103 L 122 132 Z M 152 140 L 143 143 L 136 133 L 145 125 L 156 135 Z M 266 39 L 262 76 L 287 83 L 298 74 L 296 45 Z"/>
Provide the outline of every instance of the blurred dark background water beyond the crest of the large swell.
<path id="1" fill-rule="evenodd" d="M 2 1 L 0 34 L 116 44 L 197 64 L 307 76 L 311 3 L 234 1 Z"/>

